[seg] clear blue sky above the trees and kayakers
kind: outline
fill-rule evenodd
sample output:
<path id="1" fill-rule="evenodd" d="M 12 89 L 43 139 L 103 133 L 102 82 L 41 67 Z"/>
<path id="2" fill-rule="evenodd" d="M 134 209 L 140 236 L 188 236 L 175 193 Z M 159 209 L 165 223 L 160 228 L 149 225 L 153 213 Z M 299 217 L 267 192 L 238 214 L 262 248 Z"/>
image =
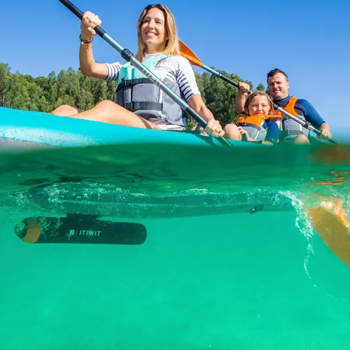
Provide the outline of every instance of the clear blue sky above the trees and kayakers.
<path id="1" fill-rule="evenodd" d="M 99 15 L 102 28 L 136 54 L 137 18 L 152 2 L 73 3 Z M 331 129 L 350 133 L 350 1 L 162 3 L 172 10 L 181 40 L 205 65 L 237 73 L 254 87 L 266 86 L 269 70 L 282 69 L 290 79 L 290 94 L 314 104 Z M 58 0 L 2 1 L 1 14 L 0 62 L 11 71 L 36 77 L 78 69 L 80 20 Z M 97 62 L 123 61 L 102 38 L 94 38 L 93 49 Z"/>

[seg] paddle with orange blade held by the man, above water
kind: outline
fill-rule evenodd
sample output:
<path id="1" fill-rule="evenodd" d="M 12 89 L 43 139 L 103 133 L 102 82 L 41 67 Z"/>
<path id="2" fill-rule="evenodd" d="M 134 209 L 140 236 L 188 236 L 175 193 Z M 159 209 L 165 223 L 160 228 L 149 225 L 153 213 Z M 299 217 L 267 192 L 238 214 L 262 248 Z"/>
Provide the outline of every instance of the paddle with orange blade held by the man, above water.
<path id="1" fill-rule="evenodd" d="M 223 76 L 223 74 L 219 73 L 218 71 L 214 71 L 214 69 L 209 68 L 209 66 L 204 65 L 202 61 L 195 55 L 195 53 L 192 50 L 190 50 L 190 48 L 188 48 L 188 46 L 185 43 L 179 41 L 179 45 L 181 56 L 186 57 L 193 65 L 200 66 L 202 69 L 205 69 L 206 71 L 209 71 L 209 73 L 214 74 L 214 76 L 225 80 L 226 83 L 229 83 L 237 88 L 239 87 L 238 83 L 236 83 L 235 81 L 229 79 L 226 76 Z M 251 94 L 251 92 L 252 91 L 248 91 L 248 94 Z M 307 128 L 311 132 L 314 132 L 318 136 L 321 135 L 321 132 L 318 129 L 313 127 L 306 120 L 302 120 L 300 116 L 293 116 L 292 114 L 281 109 L 281 107 L 277 106 L 276 104 L 274 104 L 274 109 L 280 111 L 288 118 L 295 120 L 297 123 L 300 123 L 303 127 Z M 328 141 L 332 142 L 333 144 L 337 144 L 337 142 L 334 139 L 329 139 Z"/>

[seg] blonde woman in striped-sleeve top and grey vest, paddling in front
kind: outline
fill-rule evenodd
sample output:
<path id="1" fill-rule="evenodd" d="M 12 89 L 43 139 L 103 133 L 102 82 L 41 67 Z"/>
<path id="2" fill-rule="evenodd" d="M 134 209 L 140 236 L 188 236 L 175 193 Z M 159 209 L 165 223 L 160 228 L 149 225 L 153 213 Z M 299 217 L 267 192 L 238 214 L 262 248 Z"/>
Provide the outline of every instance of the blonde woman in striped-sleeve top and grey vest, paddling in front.
<path id="1" fill-rule="evenodd" d="M 102 101 L 89 111 L 80 112 L 71 106 L 60 106 L 52 112 L 104 123 L 156 130 L 183 130 L 188 116 L 180 107 L 150 83 L 130 64 L 100 64 L 94 61 L 92 41 L 94 27 L 101 25 L 97 15 L 87 12 L 81 21 L 80 69 L 86 76 L 118 80 L 115 102 Z M 198 90 L 190 63 L 181 57 L 179 38 L 172 13 L 166 6 L 149 5 L 137 22 L 139 49 L 136 58 L 155 73 L 172 91 L 181 95 L 208 125 L 206 131 L 214 137 L 225 132 L 205 106 Z"/>

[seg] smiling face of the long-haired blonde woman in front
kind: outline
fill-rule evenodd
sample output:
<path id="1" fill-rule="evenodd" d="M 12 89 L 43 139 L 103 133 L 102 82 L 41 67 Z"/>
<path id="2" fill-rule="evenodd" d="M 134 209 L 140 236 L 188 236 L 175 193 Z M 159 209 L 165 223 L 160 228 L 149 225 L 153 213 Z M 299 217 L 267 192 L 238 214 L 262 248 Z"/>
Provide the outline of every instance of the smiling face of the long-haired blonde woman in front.
<path id="1" fill-rule="evenodd" d="M 147 48 L 160 50 L 167 40 L 165 17 L 159 8 L 151 8 L 141 25 L 141 36 Z M 149 52 L 151 53 L 151 52 Z"/>

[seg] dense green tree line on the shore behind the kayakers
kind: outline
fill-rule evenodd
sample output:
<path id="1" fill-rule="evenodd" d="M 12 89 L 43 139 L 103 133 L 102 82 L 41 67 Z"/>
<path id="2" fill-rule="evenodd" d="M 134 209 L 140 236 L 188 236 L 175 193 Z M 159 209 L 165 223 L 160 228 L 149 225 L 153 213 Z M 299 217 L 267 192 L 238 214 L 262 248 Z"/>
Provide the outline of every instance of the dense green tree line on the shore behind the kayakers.
<path id="1" fill-rule="evenodd" d="M 246 81 L 235 73 L 219 72 L 236 82 Z M 207 72 L 195 72 L 195 77 L 204 102 L 215 118 L 222 125 L 235 123 L 238 118 L 235 111 L 237 88 Z M 253 88 L 250 81 L 246 83 Z M 11 73 L 8 64 L 0 63 L 0 105 L 11 109 L 50 112 L 62 104 L 69 104 L 86 111 L 104 99 L 113 99 L 115 88 L 114 81 L 83 76 L 80 70 L 73 68 L 33 78 L 19 72 Z M 265 87 L 260 83 L 255 90 L 264 91 Z M 190 120 L 189 127 L 193 125 L 194 120 Z"/>

